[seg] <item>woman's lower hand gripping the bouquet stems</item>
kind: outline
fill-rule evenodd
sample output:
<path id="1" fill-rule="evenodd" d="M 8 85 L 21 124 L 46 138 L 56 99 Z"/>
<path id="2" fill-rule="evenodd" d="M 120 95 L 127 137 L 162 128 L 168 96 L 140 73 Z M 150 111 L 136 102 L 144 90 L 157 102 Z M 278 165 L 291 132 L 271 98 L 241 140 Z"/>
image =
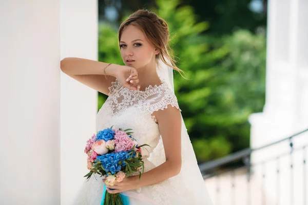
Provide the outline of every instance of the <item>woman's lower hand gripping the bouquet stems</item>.
<path id="1" fill-rule="evenodd" d="M 126 192 L 129 190 L 138 189 L 139 188 L 138 181 L 139 181 L 139 175 L 136 175 L 136 176 L 125 177 L 123 181 L 114 183 L 113 186 L 109 186 L 106 184 L 105 186 L 107 188 L 108 193 L 117 194 L 120 192 Z M 110 189 L 114 189 L 114 190 L 110 190 Z"/>

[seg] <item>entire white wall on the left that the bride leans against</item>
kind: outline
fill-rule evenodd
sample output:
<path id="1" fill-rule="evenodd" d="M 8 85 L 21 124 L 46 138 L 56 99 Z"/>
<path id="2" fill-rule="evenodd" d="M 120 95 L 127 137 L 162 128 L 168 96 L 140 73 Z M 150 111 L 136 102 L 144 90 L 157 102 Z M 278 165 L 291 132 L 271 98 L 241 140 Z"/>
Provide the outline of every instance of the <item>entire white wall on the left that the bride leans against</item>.
<path id="1" fill-rule="evenodd" d="M 1 1 L 0 204 L 69 204 L 84 180 L 98 93 L 60 60 L 97 60 L 97 12 L 97 1 Z"/>

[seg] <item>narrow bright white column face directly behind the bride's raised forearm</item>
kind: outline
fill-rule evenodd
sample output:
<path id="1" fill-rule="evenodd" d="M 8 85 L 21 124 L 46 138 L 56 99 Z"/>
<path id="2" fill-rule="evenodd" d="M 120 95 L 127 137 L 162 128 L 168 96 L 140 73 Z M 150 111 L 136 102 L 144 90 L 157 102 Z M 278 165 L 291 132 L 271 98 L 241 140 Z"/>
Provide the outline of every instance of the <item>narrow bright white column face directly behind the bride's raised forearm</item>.
<path id="1" fill-rule="evenodd" d="M 61 59 L 97 60 L 97 1 L 61 0 Z M 61 72 L 61 204 L 71 200 L 88 173 L 84 148 L 95 133 L 98 92 Z M 59 203 L 58 203 L 59 204 Z"/>

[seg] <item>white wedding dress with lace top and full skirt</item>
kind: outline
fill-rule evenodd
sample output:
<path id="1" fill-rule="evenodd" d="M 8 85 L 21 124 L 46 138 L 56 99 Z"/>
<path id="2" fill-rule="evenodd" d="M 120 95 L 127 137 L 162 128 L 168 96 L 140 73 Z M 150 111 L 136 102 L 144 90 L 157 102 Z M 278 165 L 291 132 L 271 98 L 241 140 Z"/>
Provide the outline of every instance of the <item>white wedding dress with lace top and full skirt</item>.
<path id="1" fill-rule="evenodd" d="M 151 113 L 163 110 L 168 105 L 179 109 L 176 95 L 166 81 L 162 78 L 161 80 L 161 85 L 149 86 L 145 91 L 129 90 L 122 87 L 118 80 L 115 80 L 109 88 L 109 97 L 97 114 L 97 131 L 111 126 L 114 129 L 130 128 L 133 129 L 133 137 L 139 141 L 139 145 L 148 144 L 151 146 L 142 148 L 145 172 L 165 161 L 159 127 Z M 95 176 L 98 180 L 91 176 L 89 181 L 84 181 L 73 204 L 101 204 L 104 184 L 99 175 Z M 155 185 L 130 190 L 130 192 L 149 199 L 144 200 L 140 197 L 129 196 L 130 205 L 212 204 L 185 126 L 182 126 L 182 169 L 180 174 Z M 123 194 L 126 195 L 125 192 Z"/>

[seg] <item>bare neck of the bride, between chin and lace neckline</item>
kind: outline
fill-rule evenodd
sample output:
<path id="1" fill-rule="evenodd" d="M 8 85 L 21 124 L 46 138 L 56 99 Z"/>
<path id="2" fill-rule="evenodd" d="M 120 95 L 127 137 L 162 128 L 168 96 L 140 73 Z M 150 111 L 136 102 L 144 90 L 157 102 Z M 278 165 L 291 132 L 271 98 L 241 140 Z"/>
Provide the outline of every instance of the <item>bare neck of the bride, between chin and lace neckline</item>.
<path id="1" fill-rule="evenodd" d="M 160 85 L 161 79 L 159 78 L 156 71 L 156 61 L 155 59 L 149 64 L 137 69 L 138 78 L 140 81 L 140 90 L 145 90 L 148 86 Z"/>

